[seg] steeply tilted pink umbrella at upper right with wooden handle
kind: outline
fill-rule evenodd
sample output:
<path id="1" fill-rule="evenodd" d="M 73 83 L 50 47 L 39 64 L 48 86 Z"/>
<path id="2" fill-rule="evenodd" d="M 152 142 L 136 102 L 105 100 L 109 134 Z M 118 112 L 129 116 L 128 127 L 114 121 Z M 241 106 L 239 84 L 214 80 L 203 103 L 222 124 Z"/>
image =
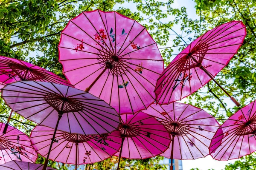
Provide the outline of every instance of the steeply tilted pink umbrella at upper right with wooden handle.
<path id="1" fill-rule="evenodd" d="M 245 36 L 244 24 L 241 21 L 232 21 L 207 31 L 189 44 L 157 80 L 157 103 L 162 105 L 181 100 L 212 79 L 239 106 L 239 102 L 214 77 L 237 53 Z"/>

